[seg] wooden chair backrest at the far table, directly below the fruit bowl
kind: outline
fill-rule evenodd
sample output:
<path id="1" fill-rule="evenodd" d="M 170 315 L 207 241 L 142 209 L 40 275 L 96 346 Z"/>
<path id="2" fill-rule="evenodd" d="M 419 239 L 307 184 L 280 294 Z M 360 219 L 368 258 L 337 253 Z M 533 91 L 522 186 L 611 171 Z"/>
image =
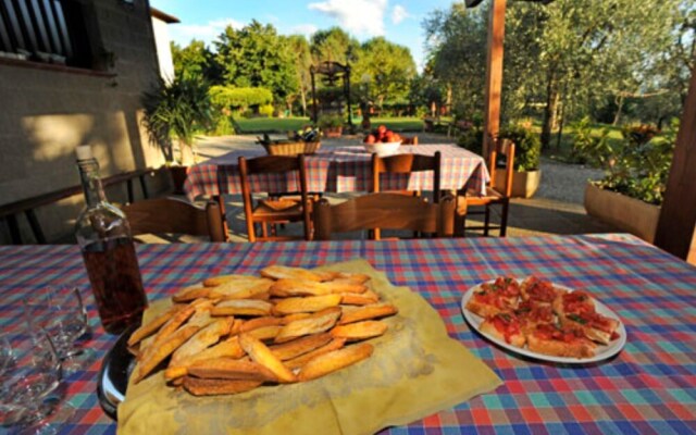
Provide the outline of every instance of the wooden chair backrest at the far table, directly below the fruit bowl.
<path id="1" fill-rule="evenodd" d="M 372 154 L 372 191 L 382 191 L 380 176 L 389 174 L 410 174 L 421 171 L 433 171 L 433 202 L 439 201 L 439 177 L 440 177 L 442 154 L 439 151 L 435 156 L 423 154 L 395 154 L 389 157 L 378 157 Z"/>

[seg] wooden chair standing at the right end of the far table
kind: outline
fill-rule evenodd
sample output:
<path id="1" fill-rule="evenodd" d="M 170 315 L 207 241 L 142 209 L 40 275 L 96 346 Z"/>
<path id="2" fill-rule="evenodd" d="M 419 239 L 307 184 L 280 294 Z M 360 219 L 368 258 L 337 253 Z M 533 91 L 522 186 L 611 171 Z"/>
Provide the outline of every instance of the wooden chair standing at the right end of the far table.
<path id="1" fill-rule="evenodd" d="M 490 182 L 486 185 L 486 194 L 484 196 L 475 196 L 465 191 L 458 192 L 455 225 L 457 235 L 459 236 L 463 236 L 467 229 L 483 229 L 483 235 L 487 237 L 492 228 L 499 229 L 500 237 L 506 236 L 508 228 L 508 211 L 510 209 L 510 196 L 512 194 L 514 142 L 510 139 L 492 139 L 490 144 L 494 146 L 488 157 Z M 500 171 L 498 171 L 497 167 L 498 156 L 506 157 L 506 164 L 505 170 L 502 170 L 502 174 L 500 174 Z M 505 177 L 502 190 L 498 190 L 494 187 L 496 185 L 496 177 L 500 175 Z M 494 206 L 500 206 L 500 225 L 490 224 L 490 209 Z M 484 210 L 475 210 L 472 212 L 470 210 L 471 207 L 483 207 Z M 484 225 L 467 227 L 467 213 L 484 214 Z"/>

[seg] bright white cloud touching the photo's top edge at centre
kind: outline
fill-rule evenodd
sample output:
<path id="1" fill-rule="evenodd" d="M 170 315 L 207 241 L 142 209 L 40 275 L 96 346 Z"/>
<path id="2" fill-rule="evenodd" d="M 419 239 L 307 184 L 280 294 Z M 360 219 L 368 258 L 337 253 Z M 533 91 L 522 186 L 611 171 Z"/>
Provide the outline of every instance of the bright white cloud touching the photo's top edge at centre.
<path id="1" fill-rule="evenodd" d="M 334 17 L 341 27 L 355 35 L 384 35 L 387 0 L 326 0 L 309 3 L 308 8 Z"/>

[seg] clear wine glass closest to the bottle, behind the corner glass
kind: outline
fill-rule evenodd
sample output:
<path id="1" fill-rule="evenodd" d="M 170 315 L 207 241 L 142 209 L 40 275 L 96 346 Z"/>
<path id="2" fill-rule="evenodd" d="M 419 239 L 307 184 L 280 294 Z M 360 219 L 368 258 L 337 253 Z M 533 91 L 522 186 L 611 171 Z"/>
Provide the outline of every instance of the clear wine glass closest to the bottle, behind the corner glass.
<path id="1" fill-rule="evenodd" d="M 46 331 L 53 341 L 63 370 L 74 371 L 89 351 L 77 346 L 87 333 L 87 311 L 78 288 L 45 287 L 24 299 L 27 324 Z M 80 361 L 80 357 L 82 360 Z"/>

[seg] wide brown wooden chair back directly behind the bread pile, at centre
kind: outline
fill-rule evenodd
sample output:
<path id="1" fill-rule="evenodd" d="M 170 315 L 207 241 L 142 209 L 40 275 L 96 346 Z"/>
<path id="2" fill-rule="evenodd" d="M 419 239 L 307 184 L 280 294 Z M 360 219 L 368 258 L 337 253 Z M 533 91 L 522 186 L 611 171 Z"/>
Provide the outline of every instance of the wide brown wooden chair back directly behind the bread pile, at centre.
<path id="1" fill-rule="evenodd" d="M 369 194 L 331 206 L 322 199 L 314 206 L 314 239 L 330 240 L 334 233 L 375 228 L 410 229 L 451 237 L 455 231 L 455 198 L 439 203 L 399 194 Z M 375 240 L 380 240 L 375 232 Z"/>

